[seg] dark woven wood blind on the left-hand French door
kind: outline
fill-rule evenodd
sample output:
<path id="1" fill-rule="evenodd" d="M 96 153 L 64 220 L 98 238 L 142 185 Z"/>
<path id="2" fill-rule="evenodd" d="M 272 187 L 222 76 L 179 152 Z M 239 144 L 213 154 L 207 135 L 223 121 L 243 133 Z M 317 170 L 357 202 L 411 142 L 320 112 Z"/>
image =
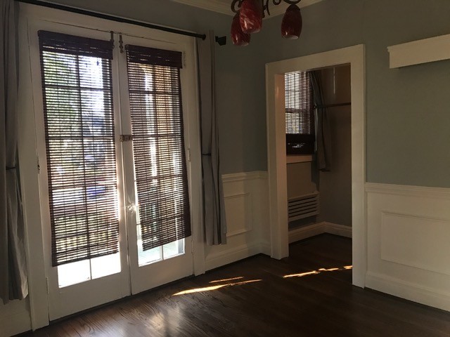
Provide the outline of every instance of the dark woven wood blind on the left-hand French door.
<path id="1" fill-rule="evenodd" d="M 118 251 L 110 41 L 39 31 L 53 266 Z"/>

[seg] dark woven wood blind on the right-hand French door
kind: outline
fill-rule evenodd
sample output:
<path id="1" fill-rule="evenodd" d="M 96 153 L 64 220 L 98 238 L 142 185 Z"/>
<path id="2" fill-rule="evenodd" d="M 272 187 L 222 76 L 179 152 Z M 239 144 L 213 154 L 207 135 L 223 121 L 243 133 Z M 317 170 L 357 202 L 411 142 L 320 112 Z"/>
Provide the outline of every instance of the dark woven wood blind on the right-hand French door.
<path id="1" fill-rule="evenodd" d="M 126 50 L 145 251 L 191 235 L 181 106 L 182 54 L 130 45 Z"/>

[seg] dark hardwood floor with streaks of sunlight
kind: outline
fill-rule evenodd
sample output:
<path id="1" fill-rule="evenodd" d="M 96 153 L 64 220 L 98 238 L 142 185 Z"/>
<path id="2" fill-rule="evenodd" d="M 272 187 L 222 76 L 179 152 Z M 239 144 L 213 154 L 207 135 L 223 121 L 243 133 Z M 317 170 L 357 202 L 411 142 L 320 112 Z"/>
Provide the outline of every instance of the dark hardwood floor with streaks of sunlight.
<path id="1" fill-rule="evenodd" d="M 450 336 L 449 312 L 352 286 L 351 251 L 323 234 L 23 336 Z"/>

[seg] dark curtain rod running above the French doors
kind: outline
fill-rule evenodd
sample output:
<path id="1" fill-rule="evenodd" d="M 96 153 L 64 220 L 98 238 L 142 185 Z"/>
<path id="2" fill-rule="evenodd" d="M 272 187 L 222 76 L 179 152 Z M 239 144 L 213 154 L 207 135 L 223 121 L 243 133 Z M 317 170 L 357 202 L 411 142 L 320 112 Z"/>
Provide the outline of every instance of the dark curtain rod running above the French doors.
<path id="1" fill-rule="evenodd" d="M 79 9 L 79 8 L 70 7 L 70 6 L 52 4 L 52 3 L 46 2 L 46 1 L 40 1 L 40 0 L 15 0 L 15 1 L 23 2 L 24 4 L 32 4 L 32 5 L 44 6 L 44 7 L 48 7 L 48 8 L 60 9 L 61 11 L 67 11 L 67 12 L 71 12 L 71 13 L 89 15 L 89 16 L 93 16 L 94 18 L 101 18 L 101 19 L 106 19 L 106 20 L 111 20 L 111 21 L 116 21 L 116 22 L 129 23 L 131 25 L 138 25 L 138 26 L 147 27 L 147 28 L 151 28 L 151 29 L 158 29 L 158 30 L 162 30 L 164 32 L 186 35 L 188 37 L 198 37 L 203 40 L 206 39 L 205 34 L 186 32 L 186 30 L 163 27 L 163 26 L 159 26 L 159 25 L 152 25 L 151 23 L 130 20 L 130 19 L 126 19 L 126 18 L 120 18 L 117 16 L 102 14 L 102 13 L 97 13 L 97 12 L 92 12 L 92 11 L 86 11 L 84 9 Z"/>

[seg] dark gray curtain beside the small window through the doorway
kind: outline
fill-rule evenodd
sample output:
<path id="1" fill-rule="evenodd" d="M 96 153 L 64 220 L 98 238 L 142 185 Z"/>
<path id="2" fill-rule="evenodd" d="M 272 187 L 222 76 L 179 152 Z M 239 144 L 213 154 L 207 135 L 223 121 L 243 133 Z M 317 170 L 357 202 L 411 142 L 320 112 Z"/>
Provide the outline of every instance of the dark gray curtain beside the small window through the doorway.
<path id="1" fill-rule="evenodd" d="M 323 99 L 320 70 L 311 72 L 311 82 L 314 93 L 314 105 L 317 107 L 317 169 L 320 171 L 331 171 L 330 122 L 326 108 L 324 107 L 325 102 Z"/>

